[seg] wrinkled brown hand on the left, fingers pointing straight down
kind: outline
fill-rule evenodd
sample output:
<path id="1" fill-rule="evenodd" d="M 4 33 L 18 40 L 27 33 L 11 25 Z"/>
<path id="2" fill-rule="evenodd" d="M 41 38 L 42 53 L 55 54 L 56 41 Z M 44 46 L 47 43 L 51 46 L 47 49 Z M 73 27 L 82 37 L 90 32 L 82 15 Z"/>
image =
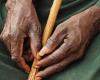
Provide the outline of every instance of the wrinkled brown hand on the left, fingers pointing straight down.
<path id="1" fill-rule="evenodd" d="M 38 21 L 32 0 L 8 0 L 8 10 L 4 29 L 0 38 L 8 47 L 11 58 L 29 73 L 30 67 L 23 58 L 23 42 L 30 38 L 30 47 L 35 56 L 41 47 L 41 26 Z"/>

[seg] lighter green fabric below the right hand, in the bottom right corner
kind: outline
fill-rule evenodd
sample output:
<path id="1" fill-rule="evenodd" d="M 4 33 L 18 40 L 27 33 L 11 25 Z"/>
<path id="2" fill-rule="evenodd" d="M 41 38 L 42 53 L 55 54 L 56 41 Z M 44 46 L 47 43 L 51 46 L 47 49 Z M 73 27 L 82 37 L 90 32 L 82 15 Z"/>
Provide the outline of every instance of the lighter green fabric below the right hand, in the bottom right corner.
<path id="1" fill-rule="evenodd" d="M 100 35 L 95 37 L 83 59 L 47 80 L 100 80 Z"/>

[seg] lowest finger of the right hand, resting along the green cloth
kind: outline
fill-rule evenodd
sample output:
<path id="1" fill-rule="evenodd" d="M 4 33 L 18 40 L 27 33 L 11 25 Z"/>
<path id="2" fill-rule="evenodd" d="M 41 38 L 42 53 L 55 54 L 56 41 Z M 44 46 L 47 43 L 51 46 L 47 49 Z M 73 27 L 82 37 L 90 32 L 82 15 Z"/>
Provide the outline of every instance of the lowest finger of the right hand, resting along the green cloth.
<path id="1" fill-rule="evenodd" d="M 38 72 L 36 74 L 36 77 L 37 78 L 38 77 L 45 78 L 45 77 L 48 77 L 50 75 L 53 75 L 53 74 L 61 71 L 62 69 L 64 69 L 69 63 L 73 62 L 74 60 L 77 60 L 77 55 L 71 54 L 67 58 L 65 58 L 63 61 L 61 61 L 57 64 L 54 64 L 50 67 L 47 67 L 43 71 Z"/>

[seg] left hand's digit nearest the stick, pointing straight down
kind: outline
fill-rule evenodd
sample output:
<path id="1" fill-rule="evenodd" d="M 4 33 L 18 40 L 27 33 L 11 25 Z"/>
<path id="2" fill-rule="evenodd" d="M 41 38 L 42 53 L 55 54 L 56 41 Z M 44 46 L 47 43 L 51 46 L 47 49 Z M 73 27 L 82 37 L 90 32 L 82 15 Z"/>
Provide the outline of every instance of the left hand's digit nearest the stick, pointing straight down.
<path id="1" fill-rule="evenodd" d="M 41 31 L 39 25 L 34 25 L 33 23 L 30 25 L 32 28 L 29 30 L 30 37 L 30 46 L 32 50 L 32 54 L 35 58 L 37 58 L 37 52 L 39 52 L 41 48 Z"/>

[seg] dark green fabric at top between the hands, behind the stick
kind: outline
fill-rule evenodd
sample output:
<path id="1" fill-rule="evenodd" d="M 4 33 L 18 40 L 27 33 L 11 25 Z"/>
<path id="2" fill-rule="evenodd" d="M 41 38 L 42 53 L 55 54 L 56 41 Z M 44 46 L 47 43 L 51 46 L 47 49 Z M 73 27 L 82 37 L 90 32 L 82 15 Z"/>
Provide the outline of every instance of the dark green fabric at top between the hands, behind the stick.
<path id="1" fill-rule="evenodd" d="M 56 24 L 59 24 L 72 15 L 85 10 L 97 1 L 98 0 L 63 0 Z M 37 9 L 37 14 L 43 25 L 46 24 L 52 3 L 53 0 L 35 0 L 34 4 Z"/>

